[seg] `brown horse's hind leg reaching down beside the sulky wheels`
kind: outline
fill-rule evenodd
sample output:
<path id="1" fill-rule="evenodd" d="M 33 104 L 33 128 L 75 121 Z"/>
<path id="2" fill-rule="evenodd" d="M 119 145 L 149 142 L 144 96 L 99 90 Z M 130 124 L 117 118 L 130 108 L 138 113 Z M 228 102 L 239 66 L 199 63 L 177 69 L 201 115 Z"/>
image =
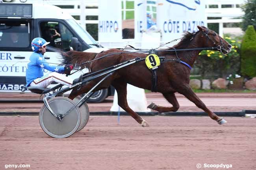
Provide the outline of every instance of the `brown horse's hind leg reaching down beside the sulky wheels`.
<path id="1" fill-rule="evenodd" d="M 112 84 L 117 91 L 118 96 L 118 105 L 125 110 L 127 113 L 129 113 L 139 124 L 141 124 L 142 127 L 148 127 L 148 123 L 142 119 L 137 113 L 135 113 L 127 103 L 127 83 L 120 81 L 115 81 Z"/>

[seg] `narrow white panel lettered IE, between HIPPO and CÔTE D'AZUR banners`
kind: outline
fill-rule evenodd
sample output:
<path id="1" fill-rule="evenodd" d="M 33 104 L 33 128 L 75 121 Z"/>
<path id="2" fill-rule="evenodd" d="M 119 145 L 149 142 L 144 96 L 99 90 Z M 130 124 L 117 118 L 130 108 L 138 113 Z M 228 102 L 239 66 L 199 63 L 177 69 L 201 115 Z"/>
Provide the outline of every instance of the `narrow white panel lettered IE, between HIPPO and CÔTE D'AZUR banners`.
<path id="1" fill-rule="evenodd" d="M 142 31 L 147 29 L 147 0 L 134 0 L 134 36 L 141 41 Z"/>

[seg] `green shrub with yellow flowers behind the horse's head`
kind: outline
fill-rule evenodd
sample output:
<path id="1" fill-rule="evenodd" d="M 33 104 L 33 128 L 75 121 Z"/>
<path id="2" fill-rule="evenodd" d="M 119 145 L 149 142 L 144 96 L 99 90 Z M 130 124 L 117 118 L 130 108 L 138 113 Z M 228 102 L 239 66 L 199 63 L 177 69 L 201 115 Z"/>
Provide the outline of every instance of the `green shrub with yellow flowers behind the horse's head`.
<path id="1" fill-rule="evenodd" d="M 226 79 L 227 75 L 239 74 L 241 41 L 239 38 L 231 38 L 229 35 L 224 35 L 223 38 L 232 44 L 232 51 L 227 55 L 213 50 L 203 50 L 199 53 L 194 66 L 200 69 L 199 74 L 204 79 L 219 77 Z"/>

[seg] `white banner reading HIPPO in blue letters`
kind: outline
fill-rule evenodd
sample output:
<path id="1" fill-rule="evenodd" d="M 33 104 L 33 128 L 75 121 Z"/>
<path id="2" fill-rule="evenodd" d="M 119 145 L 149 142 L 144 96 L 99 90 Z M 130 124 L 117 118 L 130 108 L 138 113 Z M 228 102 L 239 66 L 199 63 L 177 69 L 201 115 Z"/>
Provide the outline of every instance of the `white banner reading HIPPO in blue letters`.
<path id="1" fill-rule="evenodd" d="M 98 40 L 117 42 L 122 39 L 121 0 L 98 0 Z"/>

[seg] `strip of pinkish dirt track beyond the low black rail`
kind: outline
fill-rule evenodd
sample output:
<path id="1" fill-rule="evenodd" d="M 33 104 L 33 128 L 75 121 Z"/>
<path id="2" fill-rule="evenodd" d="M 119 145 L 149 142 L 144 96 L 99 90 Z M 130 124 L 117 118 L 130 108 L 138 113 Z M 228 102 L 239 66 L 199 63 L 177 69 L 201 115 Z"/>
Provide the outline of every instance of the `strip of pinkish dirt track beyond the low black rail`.
<path id="1" fill-rule="evenodd" d="M 256 110 L 256 93 L 197 93 L 197 95 L 213 112 Z M 39 96 L 32 93 L 0 93 L 0 112 L 39 112 L 43 102 L 28 102 L 29 100 L 38 100 Z M 161 93 L 146 93 L 146 97 L 148 104 L 154 102 L 160 106 L 171 106 Z M 180 104 L 178 112 L 202 112 L 183 95 L 176 93 L 176 97 Z M 19 102 L 6 102 L 7 100 Z M 112 105 L 113 96 L 109 96 L 102 103 L 88 103 L 90 112 L 108 112 Z"/>

